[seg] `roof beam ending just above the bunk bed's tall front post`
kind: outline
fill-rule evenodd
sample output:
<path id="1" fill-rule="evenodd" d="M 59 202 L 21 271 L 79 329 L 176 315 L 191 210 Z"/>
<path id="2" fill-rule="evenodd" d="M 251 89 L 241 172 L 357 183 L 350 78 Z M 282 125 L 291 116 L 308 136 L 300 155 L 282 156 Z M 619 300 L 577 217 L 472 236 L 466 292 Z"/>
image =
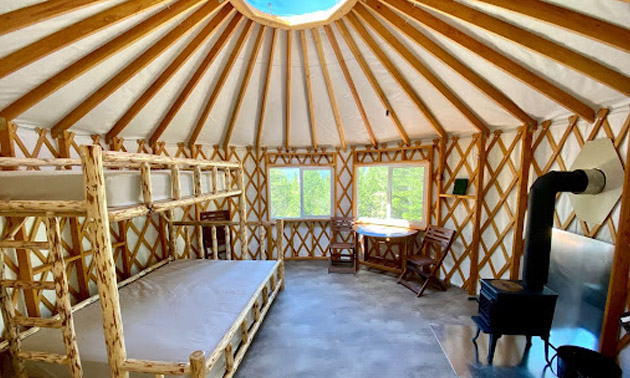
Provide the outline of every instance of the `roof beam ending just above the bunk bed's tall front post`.
<path id="1" fill-rule="evenodd" d="M 204 28 L 190 41 L 190 43 L 177 55 L 171 64 L 158 76 L 157 79 L 151 83 L 151 85 L 142 93 L 142 95 L 131 105 L 129 109 L 123 114 L 114 126 L 107 133 L 107 140 L 118 136 L 125 127 L 133 120 L 133 118 L 140 113 L 140 111 L 151 101 L 153 97 L 168 83 L 168 81 L 175 75 L 175 73 L 188 61 L 188 59 L 194 54 L 195 51 L 202 46 L 202 44 L 212 35 L 212 32 L 222 25 L 228 16 L 232 13 L 232 6 L 227 5 L 221 9 L 215 17 L 204 26 Z"/>

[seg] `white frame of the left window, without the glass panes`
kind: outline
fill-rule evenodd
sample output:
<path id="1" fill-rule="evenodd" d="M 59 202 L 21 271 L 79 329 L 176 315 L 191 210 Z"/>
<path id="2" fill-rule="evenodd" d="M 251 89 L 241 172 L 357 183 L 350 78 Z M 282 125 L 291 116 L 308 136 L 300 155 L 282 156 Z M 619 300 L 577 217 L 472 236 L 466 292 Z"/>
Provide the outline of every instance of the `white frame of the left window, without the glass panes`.
<path id="1" fill-rule="evenodd" d="M 272 169 L 291 169 L 297 168 L 299 170 L 298 180 L 300 185 L 300 216 L 299 217 L 275 217 L 271 212 L 271 175 L 269 172 Z M 328 215 L 305 215 L 304 214 L 304 171 L 305 170 L 324 170 L 330 171 L 330 214 Z M 335 213 L 335 198 L 336 198 L 336 185 L 335 185 L 335 166 L 334 164 L 269 164 L 267 165 L 267 210 L 269 220 L 283 219 L 283 220 L 322 220 L 330 219 Z"/>

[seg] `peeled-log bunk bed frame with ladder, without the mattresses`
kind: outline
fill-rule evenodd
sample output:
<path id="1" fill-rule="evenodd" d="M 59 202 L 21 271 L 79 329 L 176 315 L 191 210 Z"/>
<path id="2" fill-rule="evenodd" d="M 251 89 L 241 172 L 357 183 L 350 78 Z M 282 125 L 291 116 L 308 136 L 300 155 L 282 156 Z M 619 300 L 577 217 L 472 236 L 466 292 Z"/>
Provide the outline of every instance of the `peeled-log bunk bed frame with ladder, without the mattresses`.
<path id="1" fill-rule="evenodd" d="M 225 354 L 225 377 L 234 375 L 245 352 L 251 344 L 258 328 L 267 314 L 272 302 L 279 291 L 284 289 L 284 261 L 282 253 L 277 254 L 277 261 L 271 273 L 260 283 L 255 294 L 247 302 L 247 305 L 229 328 L 229 331 L 220 340 L 217 347 L 209 356 L 204 351 L 197 350 L 190 354 L 189 362 L 152 361 L 127 358 L 125 338 L 123 334 L 123 322 L 119 302 L 118 289 L 128 285 L 148 273 L 168 264 L 177 258 L 176 253 L 176 227 L 210 226 L 213 235 L 216 235 L 216 227 L 228 227 L 238 224 L 239 236 L 243 251 L 247 250 L 248 226 L 262 226 L 267 231 L 267 247 L 272 247 L 270 242 L 271 224 L 248 223 L 246 221 L 246 198 L 244 190 L 243 167 L 239 163 L 216 162 L 194 159 L 171 158 L 164 156 L 133 154 L 113 151 L 103 151 L 100 146 L 81 146 L 80 159 L 36 159 L 36 158 L 0 158 L 1 167 L 64 167 L 80 166 L 83 171 L 85 183 L 84 201 L 34 201 L 12 200 L 0 201 L 0 216 L 20 217 L 19 224 L 8 227 L 3 240 L 0 240 L 0 301 L 2 314 L 7 330 L 7 340 L 0 343 L 0 350 L 9 348 L 14 370 L 19 378 L 26 377 L 24 361 L 40 361 L 67 365 L 73 378 L 83 377 L 80 353 L 77 346 L 76 333 L 73 323 L 73 312 L 100 300 L 103 314 L 103 328 L 107 350 L 107 361 L 111 377 L 129 377 L 130 372 L 153 374 L 154 377 L 164 375 L 190 375 L 193 378 L 202 378 L 210 372 L 215 363 Z M 108 208 L 105 190 L 104 168 L 140 170 L 142 182 L 143 202 L 133 206 Z M 151 169 L 170 169 L 172 198 L 162 201 L 153 201 L 151 186 Z M 193 171 L 194 195 L 181 197 L 180 170 Z M 201 172 L 209 171 L 212 179 L 212 192 L 202 194 Z M 225 190 L 217 189 L 219 174 L 225 174 L 228 180 L 231 174 L 237 178 L 237 189 L 232 190 L 225 181 Z M 239 222 L 176 222 L 174 209 L 190 206 L 204 201 L 217 200 L 227 197 L 238 197 L 240 214 Z M 112 253 L 112 241 L 110 240 L 110 222 L 131 219 L 157 213 L 164 217 L 168 223 L 168 248 L 169 257 L 153 266 L 137 273 L 136 275 L 117 284 L 116 267 Z M 27 217 L 44 217 L 47 241 L 19 241 L 12 240 L 18 229 L 24 224 Z M 68 279 L 62 256 L 61 231 L 58 217 L 86 217 L 89 221 L 89 234 L 94 250 L 94 261 L 97 270 L 98 294 L 71 306 L 68 291 Z M 208 224 L 205 224 L 208 223 Z M 212 224 L 210 224 L 212 223 Z M 276 225 L 278 226 L 278 225 Z M 215 238 L 213 238 L 215 239 Z M 215 239 L 216 240 L 216 239 Z M 282 238 L 276 240 L 277 250 L 282 251 Z M 262 244 L 261 244 L 262 245 Z M 50 253 L 52 275 L 54 281 L 25 281 L 9 280 L 4 277 L 4 253 L 8 248 L 41 248 Z M 213 257 L 217 259 L 217 245 L 213 243 Z M 205 253 L 204 253 L 205 255 Z M 227 258 L 231 258 L 228 250 Z M 271 250 L 267 251 L 267 258 L 271 259 Z M 8 296 L 7 289 L 36 289 L 54 290 L 56 294 L 56 307 L 58 314 L 52 318 L 35 318 L 17 315 L 15 307 Z M 259 301 L 260 299 L 260 301 Z M 259 303 L 260 302 L 260 303 Z M 253 314 L 253 323 L 248 326 L 246 316 Z M 19 327 L 30 327 L 20 332 Z M 31 352 L 21 350 L 21 341 L 36 333 L 41 328 L 58 328 L 62 332 L 66 355 L 49 352 Z M 241 344 L 237 350 L 233 350 L 231 340 L 240 334 Z"/>

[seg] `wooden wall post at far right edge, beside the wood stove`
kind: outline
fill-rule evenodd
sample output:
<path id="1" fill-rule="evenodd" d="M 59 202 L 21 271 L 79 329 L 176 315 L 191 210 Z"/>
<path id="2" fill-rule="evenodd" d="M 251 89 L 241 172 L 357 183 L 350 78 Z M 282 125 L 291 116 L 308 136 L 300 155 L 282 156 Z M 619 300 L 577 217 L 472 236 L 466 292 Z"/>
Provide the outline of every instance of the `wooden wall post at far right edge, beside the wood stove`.
<path id="1" fill-rule="evenodd" d="M 628 296 L 628 273 L 630 271 L 630 144 L 626 158 L 625 179 L 621 196 L 621 214 L 619 230 L 615 243 L 608 298 L 604 312 L 604 323 L 599 338 L 599 351 L 608 357 L 615 357 L 619 352 L 619 315 L 624 311 Z"/>

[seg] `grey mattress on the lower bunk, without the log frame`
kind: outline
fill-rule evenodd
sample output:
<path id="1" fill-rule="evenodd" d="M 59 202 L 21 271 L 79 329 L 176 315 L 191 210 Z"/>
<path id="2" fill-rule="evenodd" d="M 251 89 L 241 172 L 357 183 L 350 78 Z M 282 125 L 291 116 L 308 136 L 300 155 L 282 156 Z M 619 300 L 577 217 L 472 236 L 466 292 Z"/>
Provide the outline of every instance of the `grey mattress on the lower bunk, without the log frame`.
<path id="1" fill-rule="evenodd" d="M 127 357 L 186 363 L 196 350 L 209 357 L 275 263 L 176 260 L 123 287 L 119 293 Z M 73 316 L 83 376 L 108 377 L 100 303 Z M 235 336 L 240 339 L 240 332 Z M 65 354 L 58 329 L 42 329 L 22 346 L 23 350 Z M 220 364 L 224 366 L 224 361 Z M 28 362 L 27 370 L 37 378 L 68 375 L 65 365 Z M 222 376 L 217 370 L 213 369 L 212 376 Z"/>

